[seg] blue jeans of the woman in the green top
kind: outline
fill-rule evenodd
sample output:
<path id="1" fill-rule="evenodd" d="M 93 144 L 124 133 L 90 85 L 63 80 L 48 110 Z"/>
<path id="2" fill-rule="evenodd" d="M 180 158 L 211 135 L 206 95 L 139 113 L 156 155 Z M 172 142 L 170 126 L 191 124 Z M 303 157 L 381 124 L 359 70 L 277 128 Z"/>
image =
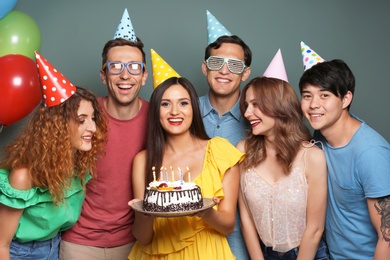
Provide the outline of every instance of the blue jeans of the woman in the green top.
<path id="1" fill-rule="evenodd" d="M 46 241 L 20 243 L 14 240 L 10 246 L 11 260 L 58 260 L 60 241 L 60 234 Z"/>

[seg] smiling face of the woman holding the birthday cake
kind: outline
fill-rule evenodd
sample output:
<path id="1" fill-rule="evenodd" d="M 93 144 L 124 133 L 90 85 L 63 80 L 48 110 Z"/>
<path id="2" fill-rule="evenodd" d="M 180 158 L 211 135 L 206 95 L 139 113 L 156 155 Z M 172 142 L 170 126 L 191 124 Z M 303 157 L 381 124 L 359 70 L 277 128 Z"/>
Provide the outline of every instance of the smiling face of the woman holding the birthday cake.
<path id="1" fill-rule="evenodd" d="M 170 86 L 160 102 L 160 123 L 170 135 L 189 132 L 193 119 L 191 98 L 181 85 Z"/>

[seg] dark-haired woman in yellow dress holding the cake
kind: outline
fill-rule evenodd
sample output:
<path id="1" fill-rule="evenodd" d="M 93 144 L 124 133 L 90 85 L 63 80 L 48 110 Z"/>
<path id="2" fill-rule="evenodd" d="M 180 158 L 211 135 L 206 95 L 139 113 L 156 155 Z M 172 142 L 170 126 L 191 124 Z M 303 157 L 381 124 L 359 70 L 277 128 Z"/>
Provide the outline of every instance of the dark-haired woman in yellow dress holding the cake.
<path id="1" fill-rule="evenodd" d="M 129 259 L 235 259 L 226 235 L 233 231 L 243 153 L 226 139 L 210 139 L 202 122 L 198 96 L 185 78 L 172 77 L 150 100 L 147 149 L 133 161 L 132 205 L 144 198 L 153 181 L 152 167 L 190 168 L 191 181 L 204 198 L 218 204 L 195 216 L 155 218 L 135 212 L 134 245 Z M 175 179 L 179 172 L 175 171 Z"/>

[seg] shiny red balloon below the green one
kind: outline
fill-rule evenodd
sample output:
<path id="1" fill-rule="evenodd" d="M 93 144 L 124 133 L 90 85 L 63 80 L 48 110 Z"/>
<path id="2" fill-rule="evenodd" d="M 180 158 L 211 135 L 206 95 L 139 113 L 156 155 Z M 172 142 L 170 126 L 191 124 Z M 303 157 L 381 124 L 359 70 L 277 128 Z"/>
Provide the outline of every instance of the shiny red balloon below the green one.
<path id="1" fill-rule="evenodd" d="M 27 116 L 42 98 L 35 62 L 20 54 L 0 57 L 0 125 Z"/>

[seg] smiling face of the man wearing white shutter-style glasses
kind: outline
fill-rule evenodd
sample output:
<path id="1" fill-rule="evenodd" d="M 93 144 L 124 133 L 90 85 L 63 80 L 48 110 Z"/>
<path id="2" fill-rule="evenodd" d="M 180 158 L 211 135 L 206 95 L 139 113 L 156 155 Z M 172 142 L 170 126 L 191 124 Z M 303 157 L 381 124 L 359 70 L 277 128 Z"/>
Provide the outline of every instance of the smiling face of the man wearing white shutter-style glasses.
<path id="1" fill-rule="evenodd" d="M 223 43 L 220 48 L 212 49 L 210 54 L 211 56 L 245 60 L 243 48 L 234 43 Z M 241 74 L 234 74 L 229 71 L 227 64 L 224 64 L 220 70 L 209 70 L 206 62 L 203 62 L 202 72 L 207 77 L 213 95 L 238 98 L 241 81 L 245 81 L 249 77 L 250 68 L 245 68 Z"/>

